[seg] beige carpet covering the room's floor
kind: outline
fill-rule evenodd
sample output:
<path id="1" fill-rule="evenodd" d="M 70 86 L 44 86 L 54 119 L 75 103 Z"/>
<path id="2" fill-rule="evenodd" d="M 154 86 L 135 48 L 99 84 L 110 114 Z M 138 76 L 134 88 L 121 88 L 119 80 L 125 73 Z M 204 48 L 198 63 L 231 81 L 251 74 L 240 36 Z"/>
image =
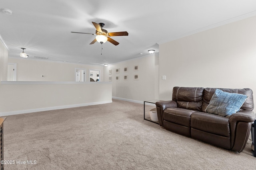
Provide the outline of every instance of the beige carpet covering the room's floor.
<path id="1" fill-rule="evenodd" d="M 151 109 L 147 106 L 146 109 Z M 167 131 L 143 120 L 143 104 L 111 104 L 8 116 L 5 170 L 232 169 L 251 170 L 248 140 L 237 153 Z M 16 164 L 17 160 L 26 164 Z M 36 160 L 36 164 L 27 164 Z"/>

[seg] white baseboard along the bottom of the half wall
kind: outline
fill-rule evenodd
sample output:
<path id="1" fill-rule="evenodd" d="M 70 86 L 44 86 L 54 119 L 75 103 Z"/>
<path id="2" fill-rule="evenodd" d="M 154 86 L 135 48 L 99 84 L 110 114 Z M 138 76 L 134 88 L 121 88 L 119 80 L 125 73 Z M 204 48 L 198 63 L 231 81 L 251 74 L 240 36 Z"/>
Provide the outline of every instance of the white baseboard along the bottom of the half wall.
<path id="1" fill-rule="evenodd" d="M 112 100 L 84 103 L 84 104 L 73 104 L 73 105 L 65 105 L 65 106 L 54 106 L 54 107 L 45 107 L 45 108 L 37 108 L 37 109 L 19 110 L 19 111 L 7 111 L 7 112 L 0 112 L 0 116 L 18 115 L 18 114 L 24 114 L 24 113 L 34 113 L 38 111 L 48 111 L 48 110 L 57 110 L 57 109 L 68 109 L 72 107 L 92 106 L 92 105 L 107 104 L 107 103 L 112 103 Z"/>

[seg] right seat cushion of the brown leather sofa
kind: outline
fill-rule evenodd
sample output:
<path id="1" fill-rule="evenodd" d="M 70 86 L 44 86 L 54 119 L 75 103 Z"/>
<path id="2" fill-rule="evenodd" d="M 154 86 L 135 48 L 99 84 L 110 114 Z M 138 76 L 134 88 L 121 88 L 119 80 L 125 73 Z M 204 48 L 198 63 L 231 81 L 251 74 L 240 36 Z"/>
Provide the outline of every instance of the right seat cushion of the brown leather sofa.
<path id="1" fill-rule="evenodd" d="M 194 112 L 191 114 L 190 126 L 200 131 L 230 137 L 229 119 L 209 113 Z"/>

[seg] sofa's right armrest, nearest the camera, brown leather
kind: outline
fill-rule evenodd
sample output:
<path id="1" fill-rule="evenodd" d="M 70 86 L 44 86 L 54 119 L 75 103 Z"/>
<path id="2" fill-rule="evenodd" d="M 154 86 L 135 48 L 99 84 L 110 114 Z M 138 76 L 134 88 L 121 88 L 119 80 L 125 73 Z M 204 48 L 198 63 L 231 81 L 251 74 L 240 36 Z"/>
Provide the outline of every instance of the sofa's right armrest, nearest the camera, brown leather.
<path id="1" fill-rule="evenodd" d="M 250 135 L 255 114 L 252 110 L 242 110 L 229 117 L 231 149 L 242 152 Z"/>

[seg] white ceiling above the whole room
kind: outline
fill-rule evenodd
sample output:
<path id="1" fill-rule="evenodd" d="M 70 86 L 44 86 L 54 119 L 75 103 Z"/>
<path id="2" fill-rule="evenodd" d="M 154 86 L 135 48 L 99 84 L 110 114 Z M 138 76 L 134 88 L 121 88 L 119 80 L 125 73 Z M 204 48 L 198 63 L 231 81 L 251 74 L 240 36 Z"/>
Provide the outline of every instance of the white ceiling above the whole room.
<path id="1" fill-rule="evenodd" d="M 0 35 L 10 57 L 22 47 L 28 58 L 82 64 L 112 64 L 159 51 L 158 44 L 256 15 L 256 0 L 1 0 Z M 120 44 L 101 45 L 96 23 L 108 32 L 127 31 L 111 37 Z M 142 54 L 140 54 L 142 53 Z M 106 60 L 106 61 L 104 61 Z"/>

